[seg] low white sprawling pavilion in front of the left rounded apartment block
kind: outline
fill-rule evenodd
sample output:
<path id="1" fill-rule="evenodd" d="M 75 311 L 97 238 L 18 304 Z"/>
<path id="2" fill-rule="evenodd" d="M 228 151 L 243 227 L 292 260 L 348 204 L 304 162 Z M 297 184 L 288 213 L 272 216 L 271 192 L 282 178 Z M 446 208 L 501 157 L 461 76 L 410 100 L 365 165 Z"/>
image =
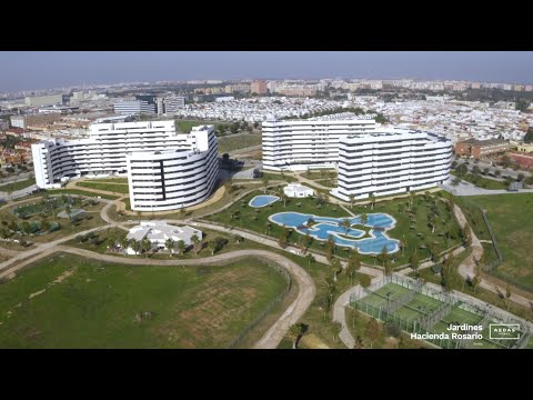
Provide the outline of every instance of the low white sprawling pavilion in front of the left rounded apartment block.
<path id="1" fill-rule="evenodd" d="M 184 226 L 184 227 L 174 227 L 168 224 L 163 221 L 150 221 L 141 222 L 141 224 L 130 229 L 127 238 L 128 240 L 134 239 L 138 241 L 148 238 L 152 243 L 152 250 L 164 250 L 167 248 L 167 240 L 172 239 L 174 241 L 174 248 L 171 250 L 172 253 L 177 250 L 178 241 L 183 241 L 183 243 L 189 247 L 192 244 L 192 237 L 197 236 L 198 239 L 202 239 L 202 231 Z M 125 249 L 128 254 L 135 254 L 135 251 L 128 247 Z"/>

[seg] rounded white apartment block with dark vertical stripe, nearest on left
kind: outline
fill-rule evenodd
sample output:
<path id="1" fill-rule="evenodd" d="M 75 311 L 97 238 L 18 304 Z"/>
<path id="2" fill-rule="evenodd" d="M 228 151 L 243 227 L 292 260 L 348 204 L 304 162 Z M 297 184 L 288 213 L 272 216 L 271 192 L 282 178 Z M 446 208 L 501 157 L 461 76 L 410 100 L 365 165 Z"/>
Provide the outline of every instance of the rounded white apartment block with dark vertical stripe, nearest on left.
<path id="1" fill-rule="evenodd" d="M 214 129 L 193 127 L 187 139 L 174 149 L 128 153 L 132 210 L 175 210 L 209 198 L 219 177 Z"/>

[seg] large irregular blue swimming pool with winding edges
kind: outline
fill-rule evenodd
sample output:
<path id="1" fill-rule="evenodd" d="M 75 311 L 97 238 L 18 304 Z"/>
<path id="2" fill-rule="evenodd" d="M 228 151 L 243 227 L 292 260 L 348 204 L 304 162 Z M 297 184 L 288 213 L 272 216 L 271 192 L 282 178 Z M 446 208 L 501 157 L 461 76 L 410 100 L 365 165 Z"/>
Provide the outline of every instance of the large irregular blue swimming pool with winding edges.
<path id="1" fill-rule="evenodd" d="M 314 220 L 314 224 L 311 228 L 308 227 L 309 219 Z M 348 230 L 341 224 L 344 219 L 350 221 Z M 272 214 L 269 217 L 269 220 L 279 226 L 293 228 L 301 234 L 309 233 L 318 240 L 325 241 L 331 234 L 338 246 L 358 248 L 364 254 L 378 254 L 383 249 L 383 246 L 386 247 L 389 253 L 396 252 L 400 249 L 399 241 L 390 238 L 385 232 L 394 228 L 396 220 L 382 212 L 366 214 L 366 223 L 364 226 L 372 229 L 369 231 L 371 238 L 364 239 L 359 239 L 364 236 L 363 230 L 352 228 L 354 224 L 361 224 L 361 216 L 355 218 L 330 218 L 291 211 Z"/>

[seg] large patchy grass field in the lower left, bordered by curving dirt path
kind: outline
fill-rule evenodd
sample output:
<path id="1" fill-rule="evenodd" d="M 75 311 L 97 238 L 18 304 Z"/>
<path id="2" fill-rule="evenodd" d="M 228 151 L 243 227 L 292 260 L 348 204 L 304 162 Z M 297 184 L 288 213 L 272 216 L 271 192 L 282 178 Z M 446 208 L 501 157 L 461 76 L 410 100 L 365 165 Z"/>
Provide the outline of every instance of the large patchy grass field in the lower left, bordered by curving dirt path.
<path id="1" fill-rule="evenodd" d="M 0 347 L 223 348 L 285 286 L 251 258 L 169 268 L 56 253 L 0 286 Z"/>

